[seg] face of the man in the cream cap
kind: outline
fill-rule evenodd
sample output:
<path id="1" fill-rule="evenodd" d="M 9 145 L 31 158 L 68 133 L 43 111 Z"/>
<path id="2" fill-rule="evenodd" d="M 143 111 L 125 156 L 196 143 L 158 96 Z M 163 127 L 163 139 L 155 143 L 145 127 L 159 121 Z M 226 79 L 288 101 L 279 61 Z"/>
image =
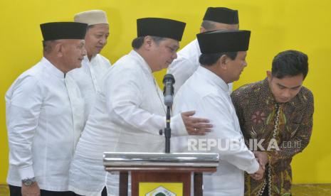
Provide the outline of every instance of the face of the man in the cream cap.
<path id="1" fill-rule="evenodd" d="M 88 28 L 85 36 L 85 48 L 89 57 L 97 55 L 103 50 L 103 47 L 107 44 L 108 36 L 108 24 L 95 24 L 93 27 Z"/>

